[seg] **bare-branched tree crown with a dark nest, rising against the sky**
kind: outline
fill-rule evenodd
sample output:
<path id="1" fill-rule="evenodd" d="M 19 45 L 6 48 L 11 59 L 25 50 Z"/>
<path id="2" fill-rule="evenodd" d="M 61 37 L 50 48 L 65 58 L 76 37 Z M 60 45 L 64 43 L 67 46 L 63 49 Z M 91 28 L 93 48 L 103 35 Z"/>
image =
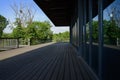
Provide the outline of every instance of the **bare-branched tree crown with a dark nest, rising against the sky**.
<path id="1" fill-rule="evenodd" d="M 25 27 L 33 22 L 36 10 L 33 6 L 27 6 L 26 4 L 11 5 L 12 10 L 15 14 L 16 23 L 20 24 L 21 27 Z"/>

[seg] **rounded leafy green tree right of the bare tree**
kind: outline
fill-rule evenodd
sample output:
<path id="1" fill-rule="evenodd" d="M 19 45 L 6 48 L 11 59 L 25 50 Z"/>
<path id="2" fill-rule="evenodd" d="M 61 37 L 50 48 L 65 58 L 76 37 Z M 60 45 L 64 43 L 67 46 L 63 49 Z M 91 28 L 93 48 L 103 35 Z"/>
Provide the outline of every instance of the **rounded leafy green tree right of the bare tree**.
<path id="1" fill-rule="evenodd" d="M 31 44 L 52 40 L 52 31 L 49 22 L 32 22 L 26 28 L 26 38 L 30 39 Z"/>

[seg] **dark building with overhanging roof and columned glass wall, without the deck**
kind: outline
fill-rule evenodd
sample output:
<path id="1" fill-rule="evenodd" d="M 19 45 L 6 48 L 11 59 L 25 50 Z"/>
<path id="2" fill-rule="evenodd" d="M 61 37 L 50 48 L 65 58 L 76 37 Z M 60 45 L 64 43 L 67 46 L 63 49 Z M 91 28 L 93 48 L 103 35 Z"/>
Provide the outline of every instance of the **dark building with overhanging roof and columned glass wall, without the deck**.
<path id="1" fill-rule="evenodd" d="M 120 50 L 104 46 L 103 11 L 115 0 L 34 0 L 55 26 L 69 26 L 70 43 L 100 80 L 120 80 Z M 93 18 L 98 16 L 98 45 Z M 89 44 L 87 44 L 89 42 Z M 66 70 L 66 69 L 65 69 Z M 87 79 L 85 79 L 87 80 Z"/>

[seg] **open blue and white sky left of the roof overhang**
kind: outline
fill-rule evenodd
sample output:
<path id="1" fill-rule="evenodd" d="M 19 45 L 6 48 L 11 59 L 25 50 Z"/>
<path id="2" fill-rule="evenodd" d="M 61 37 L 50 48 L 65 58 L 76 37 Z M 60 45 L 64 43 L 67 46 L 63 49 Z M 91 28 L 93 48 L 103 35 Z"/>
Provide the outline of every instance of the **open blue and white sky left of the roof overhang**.
<path id="1" fill-rule="evenodd" d="M 36 10 L 34 21 L 50 21 L 50 19 L 44 14 L 44 12 L 37 6 L 33 0 L 0 0 L 0 15 L 4 16 L 11 23 L 15 21 L 14 11 L 11 8 L 13 4 L 26 4 L 27 6 L 33 6 L 32 9 Z M 34 11 L 33 10 L 33 11 Z M 55 25 L 50 21 L 53 33 L 60 33 L 69 31 L 69 27 L 55 27 Z M 4 30 L 6 33 L 10 33 L 11 29 L 7 26 Z"/>

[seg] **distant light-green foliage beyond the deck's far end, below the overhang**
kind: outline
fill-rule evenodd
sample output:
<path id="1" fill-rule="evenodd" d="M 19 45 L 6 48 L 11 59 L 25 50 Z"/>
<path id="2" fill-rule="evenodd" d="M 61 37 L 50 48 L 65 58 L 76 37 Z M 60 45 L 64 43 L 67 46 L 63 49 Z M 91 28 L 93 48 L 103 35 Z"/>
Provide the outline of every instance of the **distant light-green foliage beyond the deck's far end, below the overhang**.
<path id="1" fill-rule="evenodd" d="M 55 42 L 68 42 L 69 41 L 69 32 L 63 32 L 53 35 L 53 41 Z"/>

